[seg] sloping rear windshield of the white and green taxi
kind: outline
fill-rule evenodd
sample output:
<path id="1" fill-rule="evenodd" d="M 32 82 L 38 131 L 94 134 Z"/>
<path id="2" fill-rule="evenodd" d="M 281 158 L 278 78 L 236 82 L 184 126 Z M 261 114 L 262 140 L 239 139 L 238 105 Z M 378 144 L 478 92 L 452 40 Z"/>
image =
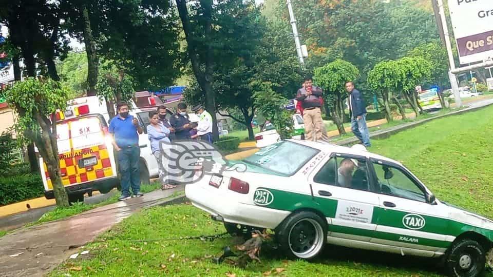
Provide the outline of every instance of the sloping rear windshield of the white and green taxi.
<path id="1" fill-rule="evenodd" d="M 310 161 L 319 150 L 301 144 L 282 141 L 264 148 L 247 157 L 243 162 L 257 167 L 291 176 Z"/>

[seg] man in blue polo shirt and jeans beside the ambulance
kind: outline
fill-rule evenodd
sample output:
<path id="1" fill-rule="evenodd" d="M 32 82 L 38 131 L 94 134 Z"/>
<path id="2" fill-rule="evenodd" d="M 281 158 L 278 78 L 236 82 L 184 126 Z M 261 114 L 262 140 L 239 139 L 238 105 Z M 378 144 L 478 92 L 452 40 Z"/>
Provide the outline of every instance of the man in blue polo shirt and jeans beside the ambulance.
<path id="1" fill-rule="evenodd" d="M 142 196 L 140 193 L 139 172 L 139 134 L 142 127 L 137 118 L 128 114 L 128 104 L 120 103 L 117 106 L 118 115 L 109 123 L 109 132 L 113 135 L 113 146 L 117 150 L 117 159 L 121 175 L 122 196 L 118 200 L 123 201 L 133 196 Z"/>

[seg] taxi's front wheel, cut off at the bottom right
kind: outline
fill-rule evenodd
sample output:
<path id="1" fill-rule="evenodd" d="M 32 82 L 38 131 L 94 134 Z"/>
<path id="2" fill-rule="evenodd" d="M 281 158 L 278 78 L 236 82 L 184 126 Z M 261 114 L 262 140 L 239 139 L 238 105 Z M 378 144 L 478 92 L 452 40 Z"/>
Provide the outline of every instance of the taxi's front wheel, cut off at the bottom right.
<path id="1" fill-rule="evenodd" d="M 445 268 L 450 276 L 475 277 L 485 273 L 486 252 L 476 241 L 464 239 L 450 248 Z"/>

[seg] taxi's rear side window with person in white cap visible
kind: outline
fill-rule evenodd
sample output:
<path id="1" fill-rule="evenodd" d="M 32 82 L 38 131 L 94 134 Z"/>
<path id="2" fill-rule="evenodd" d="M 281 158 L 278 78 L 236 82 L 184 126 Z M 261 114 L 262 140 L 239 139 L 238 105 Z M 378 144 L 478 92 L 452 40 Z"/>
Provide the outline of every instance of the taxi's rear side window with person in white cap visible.
<path id="1" fill-rule="evenodd" d="M 314 181 L 320 184 L 369 191 L 368 167 L 365 160 L 332 157 L 318 171 Z"/>

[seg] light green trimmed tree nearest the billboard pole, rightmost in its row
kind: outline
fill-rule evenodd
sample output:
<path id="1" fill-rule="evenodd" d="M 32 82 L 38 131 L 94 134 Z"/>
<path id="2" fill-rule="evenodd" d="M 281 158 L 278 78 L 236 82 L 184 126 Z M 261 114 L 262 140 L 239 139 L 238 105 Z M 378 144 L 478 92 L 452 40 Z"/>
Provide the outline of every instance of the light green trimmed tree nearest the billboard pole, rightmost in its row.
<path id="1" fill-rule="evenodd" d="M 424 82 L 428 85 L 438 85 L 440 87 L 439 96 L 442 107 L 445 107 L 443 90 L 450 86 L 448 78 L 448 56 L 447 49 L 440 41 L 422 44 L 413 48 L 407 53 L 408 57 L 422 57 L 428 61 L 433 68 L 429 80 Z"/>

